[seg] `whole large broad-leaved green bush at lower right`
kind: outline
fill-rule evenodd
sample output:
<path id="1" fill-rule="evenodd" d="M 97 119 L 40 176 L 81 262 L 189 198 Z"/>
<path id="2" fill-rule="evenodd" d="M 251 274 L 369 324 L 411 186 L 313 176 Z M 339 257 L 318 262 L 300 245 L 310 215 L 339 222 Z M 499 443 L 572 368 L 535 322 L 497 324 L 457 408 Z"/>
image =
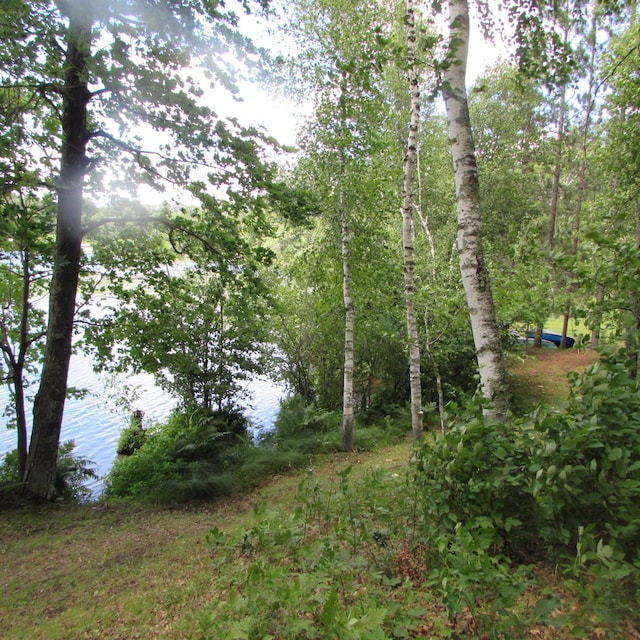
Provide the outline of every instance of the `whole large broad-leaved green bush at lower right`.
<path id="1" fill-rule="evenodd" d="M 640 386 L 625 360 L 603 353 L 572 375 L 565 406 L 539 407 L 508 425 L 486 421 L 473 405 L 418 452 L 425 533 L 441 554 L 430 578 L 446 585 L 450 610 L 475 594 L 505 592 L 503 562 L 543 549 L 570 574 L 588 576 L 594 610 L 634 610 Z"/>

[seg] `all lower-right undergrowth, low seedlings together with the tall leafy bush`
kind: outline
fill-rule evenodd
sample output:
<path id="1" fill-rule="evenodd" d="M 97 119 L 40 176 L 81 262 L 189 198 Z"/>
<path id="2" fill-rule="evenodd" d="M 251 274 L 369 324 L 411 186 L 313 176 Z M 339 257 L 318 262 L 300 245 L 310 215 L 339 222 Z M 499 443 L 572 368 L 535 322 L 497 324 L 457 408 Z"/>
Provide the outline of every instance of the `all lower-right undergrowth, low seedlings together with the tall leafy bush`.
<path id="1" fill-rule="evenodd" d="M 228 598 L 197 638 L 628 637 L 640 388 L 626 363 L 603 354 L 562 407 L 504 425 L 484 408 L 458 411 L 408 474 L 309 476 L 295 509 L 261 505 L 233 538 L 212 529 Z M 555 580 L 540 577 L 547 563 Z"/>

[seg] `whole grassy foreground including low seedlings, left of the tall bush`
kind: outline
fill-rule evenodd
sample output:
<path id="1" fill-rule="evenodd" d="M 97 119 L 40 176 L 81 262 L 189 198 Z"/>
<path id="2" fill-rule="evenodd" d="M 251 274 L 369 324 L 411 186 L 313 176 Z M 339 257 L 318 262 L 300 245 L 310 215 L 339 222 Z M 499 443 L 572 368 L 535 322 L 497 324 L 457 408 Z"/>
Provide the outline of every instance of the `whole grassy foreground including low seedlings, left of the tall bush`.
<path id="1" fill-rule="evenodd" d="M 450 618 L 425 581 L 431 551 L 406 479 L 411 454 L 405 442 L 318 458 L 249 493 L 179 508 L 12 512 L 0 521 L 2 637 L 483 637 L 502 615 L 490 599 Z M 526 628 L 501 623 L 495 637 L 575 637 L 566 621 L 552 631 L 535 618 L 541 600 L 556 599 L 558 613 L 597 632 L 539 566 L 512 612 Z M 593 637 L 632 632 L 619 623 Z"/>

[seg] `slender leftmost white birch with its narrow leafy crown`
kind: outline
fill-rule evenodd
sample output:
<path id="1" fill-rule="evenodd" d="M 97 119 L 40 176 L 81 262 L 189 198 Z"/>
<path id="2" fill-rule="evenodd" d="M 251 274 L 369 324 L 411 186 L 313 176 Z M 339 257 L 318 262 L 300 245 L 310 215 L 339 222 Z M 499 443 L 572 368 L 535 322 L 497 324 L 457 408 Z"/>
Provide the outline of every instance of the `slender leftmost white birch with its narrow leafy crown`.
<path id="1" fill-rule="evenodd" d="M 303 140 L 303 149 L 324 166 L 331 165 L 325 206 L 339 237 L 344 309 L 342 364 L 342 448 L 353 448 L 355 324 L 354 255 L 365 242 L 360 189 L 367 181 L 364 163 L 378 144 L 382 104 L 377 73 L 382 51 L 377 37 L 384 19 L 381 9 L 353 0 L 300 1 L 293 6 L 291 24 L 301 54 L 294 61 L 315 94 L 316 112 Z M 324 172 L 323 172 L 324 173 Z"/>

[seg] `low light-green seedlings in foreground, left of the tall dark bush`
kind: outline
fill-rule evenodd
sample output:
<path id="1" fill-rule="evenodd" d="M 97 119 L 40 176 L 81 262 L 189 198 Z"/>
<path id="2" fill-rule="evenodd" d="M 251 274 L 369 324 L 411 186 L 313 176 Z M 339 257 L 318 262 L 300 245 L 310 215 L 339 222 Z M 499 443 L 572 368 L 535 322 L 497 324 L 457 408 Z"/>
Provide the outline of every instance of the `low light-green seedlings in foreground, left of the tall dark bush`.
<path id="1" fill-rule="evenodd" d="M 202 613 L 195 637 L 417 637 L 433 603 L 407 489 L 404 474 L 382 469 L 358 479 L 344 469 L 330 490 L 308 475 L 293 510 L 259 505 L 254 526 L 231 539 L 212 529 L 228 597 Z"/>

